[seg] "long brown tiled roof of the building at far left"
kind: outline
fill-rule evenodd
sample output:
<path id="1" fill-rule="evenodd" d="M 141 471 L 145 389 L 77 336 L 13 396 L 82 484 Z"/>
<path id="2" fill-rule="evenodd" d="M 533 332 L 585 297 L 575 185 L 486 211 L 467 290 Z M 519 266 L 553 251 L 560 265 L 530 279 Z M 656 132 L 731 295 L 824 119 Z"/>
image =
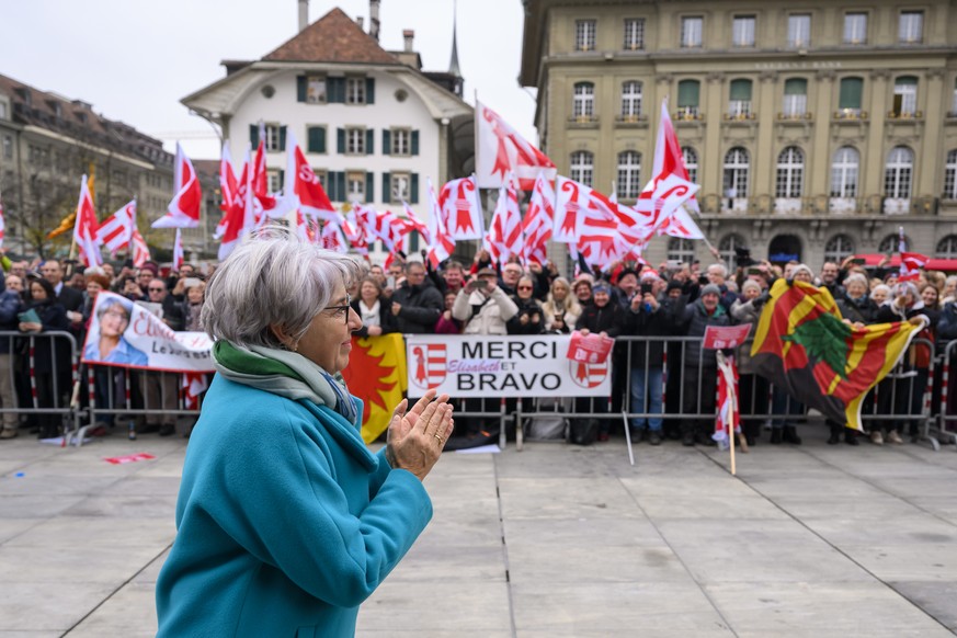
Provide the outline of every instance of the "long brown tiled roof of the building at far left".
<path id="1" fill-rule="evenodd" d="M 81 100 L 70 101 L 2 75 L 0 93 L 10 98 L 12 119 L 18 124 L 32 124 L 153 163 L 173 163 L 173 156 L 163 150 L 162 141 L 94 113 L 93 107 Z"/>

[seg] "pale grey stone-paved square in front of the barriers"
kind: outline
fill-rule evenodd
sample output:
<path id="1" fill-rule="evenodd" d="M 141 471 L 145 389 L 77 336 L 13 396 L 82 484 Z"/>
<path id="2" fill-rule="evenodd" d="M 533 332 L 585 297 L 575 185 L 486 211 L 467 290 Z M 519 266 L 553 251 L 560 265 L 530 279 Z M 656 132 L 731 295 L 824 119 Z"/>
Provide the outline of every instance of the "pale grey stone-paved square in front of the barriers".
<path id="1" fill-rule="evenodd" d="M 446 453 L 365 637 L 953 636 L 957 454 L 528 443 Z M 156 633 L 186 441 L 0 442 L 0 637 Z M 104 457 L 156 458 L 111 465 Z"/>

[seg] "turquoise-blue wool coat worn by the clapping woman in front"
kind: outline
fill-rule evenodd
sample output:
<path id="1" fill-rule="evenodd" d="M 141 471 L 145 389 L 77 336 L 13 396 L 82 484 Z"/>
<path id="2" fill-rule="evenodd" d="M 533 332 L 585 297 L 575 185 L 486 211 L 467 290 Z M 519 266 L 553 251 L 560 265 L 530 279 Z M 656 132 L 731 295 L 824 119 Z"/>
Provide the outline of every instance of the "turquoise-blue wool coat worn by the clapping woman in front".
<path id="1" fill-rule="evenodd" d="M 216 375 L 186 451 L 157 636 L 353 636 L 358 605 L 431 517 L 421 481 L 356 425 Z"/>

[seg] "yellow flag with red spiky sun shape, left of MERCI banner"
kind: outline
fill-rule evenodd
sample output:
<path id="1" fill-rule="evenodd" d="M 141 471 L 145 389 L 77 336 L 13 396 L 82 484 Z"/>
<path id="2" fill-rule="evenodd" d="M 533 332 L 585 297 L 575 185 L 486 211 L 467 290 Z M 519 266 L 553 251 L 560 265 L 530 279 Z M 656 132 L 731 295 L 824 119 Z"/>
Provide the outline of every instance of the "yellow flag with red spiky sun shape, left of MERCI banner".
<path id="1" fill-rule="evenodd" d="M 372 443 L 389 426 L 392 410 L 406 395 L 409 379 L 402 335 L 353 337 L 342 378 L 349 391 L 363 400 L 362 437 Z"/>

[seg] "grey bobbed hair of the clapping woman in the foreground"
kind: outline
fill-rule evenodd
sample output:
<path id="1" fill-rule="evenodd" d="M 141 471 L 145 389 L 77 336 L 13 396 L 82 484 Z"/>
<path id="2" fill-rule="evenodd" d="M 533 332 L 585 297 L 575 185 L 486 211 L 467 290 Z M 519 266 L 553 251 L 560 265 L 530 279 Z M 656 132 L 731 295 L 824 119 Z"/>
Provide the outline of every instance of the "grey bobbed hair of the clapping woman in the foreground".
<path id="1" fill-rule="evenodd" d="M 353 258 L 308 243 L 284 226 L 267 226 L 213 273 L 200 321 L 213 339 L 281 348 L 271 326 L 298 341 L 335 288 L 348 288 L 362 273 Z"/>

